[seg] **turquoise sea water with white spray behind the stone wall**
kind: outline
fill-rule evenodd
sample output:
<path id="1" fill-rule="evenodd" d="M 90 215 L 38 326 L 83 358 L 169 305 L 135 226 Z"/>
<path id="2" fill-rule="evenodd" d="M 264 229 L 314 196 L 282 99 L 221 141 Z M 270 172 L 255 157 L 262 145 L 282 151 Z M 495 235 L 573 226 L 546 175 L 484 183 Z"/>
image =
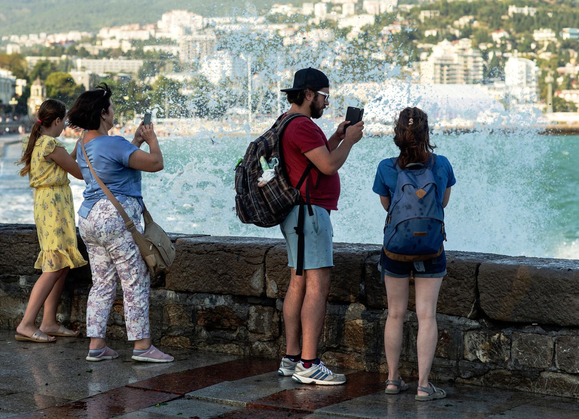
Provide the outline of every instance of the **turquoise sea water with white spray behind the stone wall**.
<path id="1" fill-rule="evenodd" d="M 328 136 L 335 129 L 318 122 Z M 161 138 L 165 168 L 143 173 L 142 181 L 155 220 L 172 232 L 281 238 L 278 227 L 241 224 L 234 210 L 233 167 L 253 137 Z M 481 130 L 435 131 L 431 139 L 457 180 L 445 209 L 446 249 L 579 259 L 579 136 Z M 74 147 L 72 140 L 65 144 Z M 32 191 L 13 165 L 20 145 L 6 149 L 0 163 L 0 223 L 33 223 Z M 391 136 L 366 136 L 353 147 L 339 170 L 334 241 L 382 242 L 386 214 L 372 184 L 378 163 L 397 154 Z M 76 208 L 83 186 L 71 179 Z"/>

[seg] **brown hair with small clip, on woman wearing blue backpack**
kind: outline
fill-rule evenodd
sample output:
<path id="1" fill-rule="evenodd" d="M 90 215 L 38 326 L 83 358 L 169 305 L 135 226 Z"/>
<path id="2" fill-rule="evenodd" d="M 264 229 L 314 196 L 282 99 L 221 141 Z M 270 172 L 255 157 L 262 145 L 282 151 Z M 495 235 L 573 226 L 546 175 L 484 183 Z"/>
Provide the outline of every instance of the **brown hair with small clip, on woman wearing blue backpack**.
<path id="1" fill-rule="evenodd" d="M 405 108 L 394 120 L 394 144 L 400 148 L 398 166 L 426 163 L 436 145 L 430 144 L 428 115 L 422 109 Z"/>

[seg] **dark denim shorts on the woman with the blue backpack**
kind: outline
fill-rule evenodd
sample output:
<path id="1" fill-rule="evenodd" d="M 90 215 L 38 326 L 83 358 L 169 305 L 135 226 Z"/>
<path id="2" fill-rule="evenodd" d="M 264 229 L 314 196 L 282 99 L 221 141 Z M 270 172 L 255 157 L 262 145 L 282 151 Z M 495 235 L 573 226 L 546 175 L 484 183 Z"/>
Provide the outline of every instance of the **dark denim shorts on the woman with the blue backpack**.
<path id="1" fill-rule="evenodd" d="M 441 278 L 446 275 L 446 254 L 442 250 L 439 256 L 432 259 L 420 262 L 399 262 L 386 256 L 382 249 L 378 270 L 382 272 L 382 280 L 384 280 L 384 275 L 408 278 L 411 273 L 414 278 Z"/>

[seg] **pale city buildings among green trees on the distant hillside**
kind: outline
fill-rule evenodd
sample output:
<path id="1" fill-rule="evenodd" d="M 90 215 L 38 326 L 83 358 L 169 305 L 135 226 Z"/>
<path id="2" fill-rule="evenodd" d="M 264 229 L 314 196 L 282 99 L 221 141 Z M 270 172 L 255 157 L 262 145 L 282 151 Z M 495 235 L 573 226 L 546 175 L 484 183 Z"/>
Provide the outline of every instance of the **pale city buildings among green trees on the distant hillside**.
<path id="1" fill-rule="evenodd" d="M 483 85 L 505 104 L 544 109 L 547 89 L 539 88 L 544 82 L 541 71 L 544 78 L 547 68 L 553 74 L 556 68 L 554 80 L 548 83 L 560 99 L 557 103 L 576 103 L 579 28 L 562 28 L 556 23 L 558 16 L 540 5 L 492 3 L 500 9 L 494 20 L 479 13 L 478 6 L 465 14 L 466 9 L 454 5 L 321 0 L 280 1 L 236 16 L 169 10 L 151 23 L 93 32 L 5 35 L 0 52 L 21 56 L 28 74 L 41 75 L 41 83 L 47 72 L 63 72 L 85 89 L 107 78 L 152 89 L 156 81 L 167 78 L 180 83 L 176 91 L 188 100 L 195 97 L 194 83 L 203 85 L 204 94 L 218 91 L 223 83 L 232 83 L 240 97 L 245 97 L 248 85 L 269 91 L 279 78 L 291 78 L 292 60 L 309 50 L 312 62 L 329 70 L 364 68 L 356 77 L 384 81 L 393 72 L 422 85 Z M 522 29 L 522 19 L 541 24 L 525 24 Z M 559 53 L 562 42 L 565 50 Z M 247 46 L 255 50 L 246 54 Z M 266 74 L 270 67 L 276 68 L 275 75 Z M 36 97 L 43 96 L 31 76 L 8 79 L 6 86 L 12 87 L 6 87 L 6 92 L 2 88 L 2 103 L 23 95 L 27 99 L 33 88 Z"/>

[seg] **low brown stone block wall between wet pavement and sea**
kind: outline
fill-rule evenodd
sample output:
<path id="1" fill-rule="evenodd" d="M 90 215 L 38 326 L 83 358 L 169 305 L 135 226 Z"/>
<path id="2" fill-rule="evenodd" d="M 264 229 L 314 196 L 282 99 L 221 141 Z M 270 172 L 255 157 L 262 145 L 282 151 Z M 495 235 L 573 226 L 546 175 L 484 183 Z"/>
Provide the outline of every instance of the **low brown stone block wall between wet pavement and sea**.
<path id="1" fill-rule="evenodd" d="M 151 326 L 165 345 L 284 354 L 285 245 L 276 239 L 173 235 L 177 258 L 152 279 Z M 0 224 L 0 327 L 14 328 L 39 272 L 33 225 Z M 79 238 L 80 250 L 86 249 Z M 320 342 L 325 363 L 386 371 L 387 300 L 379 246 L 336 243 Z M 579 398 L 579 261 L 447 252 L 432 377 Z M 71 271 L 61 319 L 85 331 L 90 269 Z M 411 281 L 401 373 L 416 376 Z M 107 333 L 126 338 L 120 287 Z"/>

